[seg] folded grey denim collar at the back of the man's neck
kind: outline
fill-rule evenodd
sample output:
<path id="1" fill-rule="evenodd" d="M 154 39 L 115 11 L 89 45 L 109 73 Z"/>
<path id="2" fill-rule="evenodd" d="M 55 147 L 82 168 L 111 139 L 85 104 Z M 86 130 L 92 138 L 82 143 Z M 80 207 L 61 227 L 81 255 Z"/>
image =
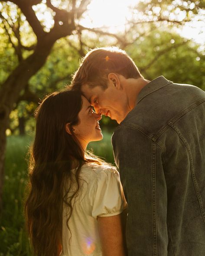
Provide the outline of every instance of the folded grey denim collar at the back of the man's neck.
<path id="1" fill-rule="evenodd" d="M 170 83 L 173 82 L 167 80 L 164 76 L 159 76 L 156 79 L 150 81 L 150 83 L 147 83 L 146 86 L 144 86 L 138 94 L 136 104 L 138 104 L 144 97 L 146 97 L 150 93 L 153 93 L 154 91 L 159 90 L 160 88 Z"/>

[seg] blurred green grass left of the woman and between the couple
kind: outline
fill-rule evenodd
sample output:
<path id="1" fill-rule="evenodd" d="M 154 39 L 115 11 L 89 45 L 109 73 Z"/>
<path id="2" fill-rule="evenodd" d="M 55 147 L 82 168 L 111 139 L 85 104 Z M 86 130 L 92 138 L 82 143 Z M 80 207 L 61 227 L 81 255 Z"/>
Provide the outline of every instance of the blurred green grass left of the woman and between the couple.
<path id="1" fill-rule="evenodd" d="M 104 139 L 88 145 L 97 156 L 114 163 L 111 132 L 103 132 Z M 3 213 L 0 220 L 0 256 L 31 256 L 29 240 L 24 229 L 23 199 L 27 182 L 26 153 L 31 136 L 7 137 L 3 187 Z"/>

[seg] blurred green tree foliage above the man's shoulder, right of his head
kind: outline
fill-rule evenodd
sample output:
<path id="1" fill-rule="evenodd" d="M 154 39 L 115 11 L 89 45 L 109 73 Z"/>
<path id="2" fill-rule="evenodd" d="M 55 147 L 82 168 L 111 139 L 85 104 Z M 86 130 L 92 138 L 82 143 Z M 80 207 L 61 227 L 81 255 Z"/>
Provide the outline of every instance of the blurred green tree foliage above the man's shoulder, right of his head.
<path id="1" fill-rule="evenodd" d="M 205 90 L 205 50 L 200 48 L 176 33 L 153 30 L 126 50 L 146 79 L 163 75 L 175 83 L 193 84 Z"/>

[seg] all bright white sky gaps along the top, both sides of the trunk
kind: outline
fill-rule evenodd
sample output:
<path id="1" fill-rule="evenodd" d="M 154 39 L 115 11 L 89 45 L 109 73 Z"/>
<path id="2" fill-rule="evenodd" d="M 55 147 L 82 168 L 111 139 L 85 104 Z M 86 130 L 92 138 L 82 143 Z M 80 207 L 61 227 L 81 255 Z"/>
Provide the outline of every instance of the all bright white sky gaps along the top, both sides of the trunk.
<path id="1" fill-rule="evenodd" d="M 164 18 L 169 20 L 177 20 L 178 22 L 185 19 L 187 13 L 185 10 L 181 10 L 176 7 L 176 0 L 170 4 L 166 10 L 161 10 L 161 7 L 156 6 L 151 10 L 147 10 L 145 13 L 142 10 L 134 8 L 140 0 L 92 0 L 87 7 L 87 11 L 83 14 L 80 20 L 76 20 L 76 23 L 80 23 L 84 27 L 101 29 L 109 33 L 123 33 L 129 30 L 130 20 L 134 22 L 150 21 L 152 19 L 157 20 L 157 16 L 160 14 Z M 158 2 L 161 0 L 158 0 Z M 180 1 L 180 0 L 178 0 Z M 51 0 L 52 4 L 60 9 L 70 10 L 71 6 L 68 1 Z M 80 1 L 77 1 L 77 5 Z M 187 3 L 183 2 L 184 7 Z M 194 3 L 191 3 L 190 9 L 195 7 Z M 49 32 L 54 25 L 53 12 L 46 7 L 46 0 L 42 0 L 42 3 L 33 6 L 33 10 L 36 12 L 36 16 L 44 26 L 44 30 Z M 173 10 L 173 12 L 172 12 Z M 192 11 L 189 12 L 189 16 L 192 16 Z M 196 43 L 205 43 L 205 23 L 198 21 L 197 18 L 203 20 L 205 11 L 201 10 L 195 20 L 185 24 L 182 28 L 176 28 L 175 31 L 182 37 L 194 40 Z M 59 23 L 60 24 L 60 23 Z M 60 24 L 61 25 L 61 24 Z"/>

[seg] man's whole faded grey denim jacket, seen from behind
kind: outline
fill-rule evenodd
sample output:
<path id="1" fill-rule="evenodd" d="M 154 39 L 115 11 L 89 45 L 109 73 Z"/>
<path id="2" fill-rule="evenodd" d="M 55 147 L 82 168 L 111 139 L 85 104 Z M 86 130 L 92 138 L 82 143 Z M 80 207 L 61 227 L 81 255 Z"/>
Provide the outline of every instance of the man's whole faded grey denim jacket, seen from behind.
<path id="1" fill-rule="evenodd" d="M 205 256 L 205 92 L 148 83 L 112 136 L 129 256 Z"/>

